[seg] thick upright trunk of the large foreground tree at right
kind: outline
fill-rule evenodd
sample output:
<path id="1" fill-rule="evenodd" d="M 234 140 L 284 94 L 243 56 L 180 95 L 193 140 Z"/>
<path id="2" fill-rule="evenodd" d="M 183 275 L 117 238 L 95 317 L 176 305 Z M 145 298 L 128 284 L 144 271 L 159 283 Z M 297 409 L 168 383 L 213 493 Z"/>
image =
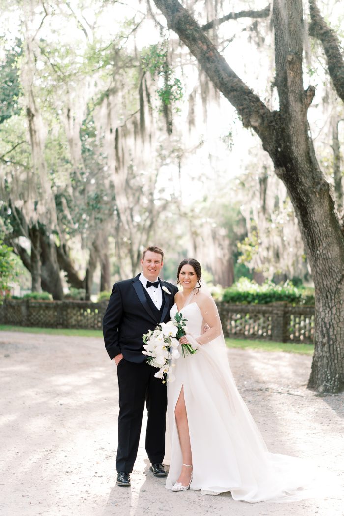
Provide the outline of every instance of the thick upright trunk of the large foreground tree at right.
<path id="1" fill-rule="evenodd" d="M 275 0 L 273 19 L 280 120 L 270 155 L 296 211 L 315 284 L 315 351 L 308 386 L 339 392 L 344 389 L 344 238 L 308 136 L 307 108 L 314 91 L 303 89 L 302 2 Z"/>

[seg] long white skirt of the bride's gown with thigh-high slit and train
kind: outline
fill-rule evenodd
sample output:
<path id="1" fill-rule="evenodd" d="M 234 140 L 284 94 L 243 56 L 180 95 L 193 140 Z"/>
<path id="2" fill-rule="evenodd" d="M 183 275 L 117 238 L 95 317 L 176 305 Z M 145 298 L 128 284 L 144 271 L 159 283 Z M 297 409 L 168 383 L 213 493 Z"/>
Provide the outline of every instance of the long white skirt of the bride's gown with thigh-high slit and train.
<path id="1" fill-rule="evenodd" d="M 171 489 L 182 467 L 174 409 L 184 386 L 193 479 L 190 489 L 235 500 L 289 502 L 314 496 L 314 465 L 304 459 L 269 453 L 244 404 L 218 337 L 175 365 L 168 384 Z M 312 489 L 313 486 L 313 489 Z"/>

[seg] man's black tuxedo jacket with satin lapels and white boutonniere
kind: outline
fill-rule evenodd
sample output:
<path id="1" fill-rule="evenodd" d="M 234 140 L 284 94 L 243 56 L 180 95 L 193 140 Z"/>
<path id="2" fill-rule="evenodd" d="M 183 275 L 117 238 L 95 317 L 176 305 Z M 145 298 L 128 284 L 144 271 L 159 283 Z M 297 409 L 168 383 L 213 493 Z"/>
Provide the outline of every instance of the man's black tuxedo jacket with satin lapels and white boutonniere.
<path id="1" fill-rule="evenodd" d="M 157 320 L 143 292 L 139 276 L 114 283 L 112 287 L 103 319 L 105 347 L 111 360 L 123 353 L 129 362 L 143 362 L 146 357 L 142 354 L 142 335 L 153 330 L 159 322 L 170 319 L 170 309 L 178 288 L 159 279 L 160 287 L 165 286 L 170 294 L 162 291 L 165 305 L 161 319 Z"/>

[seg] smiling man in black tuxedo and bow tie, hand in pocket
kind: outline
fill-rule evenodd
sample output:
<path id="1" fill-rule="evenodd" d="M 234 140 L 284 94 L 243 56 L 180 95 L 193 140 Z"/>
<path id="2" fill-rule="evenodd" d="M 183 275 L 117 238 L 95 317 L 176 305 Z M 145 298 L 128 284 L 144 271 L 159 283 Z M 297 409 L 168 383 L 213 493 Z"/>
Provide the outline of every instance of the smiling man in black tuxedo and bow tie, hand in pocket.
<path id="1" fill-rule="evenodd" d="M 145 448 L 155 476 L 166 476 L 165 455 L 166 384 L 154 377 L 155 367 L 142 354 L 142 335 L 159 322 L 170 319 L 170 308 L 178 289 L 158 278 L 163 266 L 159 247 L 143 251 L 142 272 L 112 287 L 103 319 L 105 347 L 117 364 L 119 385 L 117 484 L 130 486 L 130 473 L 139 446 L 144 403 L 148 411 Z"/>

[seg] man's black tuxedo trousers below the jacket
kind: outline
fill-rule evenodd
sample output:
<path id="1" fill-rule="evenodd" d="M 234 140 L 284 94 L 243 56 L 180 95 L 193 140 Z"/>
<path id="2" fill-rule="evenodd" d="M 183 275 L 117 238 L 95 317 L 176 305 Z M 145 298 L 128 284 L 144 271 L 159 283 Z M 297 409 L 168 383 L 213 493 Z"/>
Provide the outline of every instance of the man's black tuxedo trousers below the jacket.
<path id="1" fill-rule="evenodd" d="M 148 411 L 146 451 L 152 464 L 165 455 L 167 388 L 157 369 L 148 363 L 122 359 L 117 367 L 120 413 L 118 418 L 117 471 L 133 471 L 139 447 L 144 401 Z"/>

